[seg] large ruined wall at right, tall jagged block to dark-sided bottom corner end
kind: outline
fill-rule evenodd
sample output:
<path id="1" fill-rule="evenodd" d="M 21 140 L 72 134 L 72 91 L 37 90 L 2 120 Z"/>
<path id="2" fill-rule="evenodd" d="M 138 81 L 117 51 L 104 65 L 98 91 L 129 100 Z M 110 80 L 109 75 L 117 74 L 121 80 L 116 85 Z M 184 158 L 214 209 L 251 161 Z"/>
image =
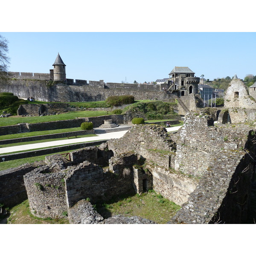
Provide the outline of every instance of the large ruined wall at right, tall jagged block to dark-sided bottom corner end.
<path id="1" fill-rule="evenodd" d="M 210 124 L 209 117 L 189 113 L 177 133 L 175 171 L 199 179 L 173 218 L 175 223 L 246 221 L 254 172 L 254 132 L 246 125 Z"/>

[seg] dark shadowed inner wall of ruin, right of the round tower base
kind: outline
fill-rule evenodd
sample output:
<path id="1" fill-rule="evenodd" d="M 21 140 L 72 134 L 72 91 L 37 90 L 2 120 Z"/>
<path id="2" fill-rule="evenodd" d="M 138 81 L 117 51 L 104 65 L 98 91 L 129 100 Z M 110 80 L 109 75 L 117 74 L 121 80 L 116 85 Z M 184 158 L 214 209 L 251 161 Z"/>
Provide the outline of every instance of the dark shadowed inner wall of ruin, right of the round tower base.
<path id="1" fill-rule="evenodd" d="M 101 167 L 87 161 L 67 172 L 64 179 L 68 207 L 84 198 L 90 198 L 92 202 L 107 201 L 113 196 L 134 191 L 131 174 L 103 172 Z"/>

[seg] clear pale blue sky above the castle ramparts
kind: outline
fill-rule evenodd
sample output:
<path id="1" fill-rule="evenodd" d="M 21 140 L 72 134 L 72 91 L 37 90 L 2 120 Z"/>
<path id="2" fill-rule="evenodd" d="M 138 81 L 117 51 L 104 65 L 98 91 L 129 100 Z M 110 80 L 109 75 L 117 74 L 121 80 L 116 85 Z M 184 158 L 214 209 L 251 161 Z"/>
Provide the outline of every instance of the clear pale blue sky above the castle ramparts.
<path id="1" fill-rule="evenodd" d="M 256 75 L 255 32 L 0 32 L 9 71 L 49 73 L 59 52 L 67 78 L 133 83 L 189 67 L 206 79 Z"/>

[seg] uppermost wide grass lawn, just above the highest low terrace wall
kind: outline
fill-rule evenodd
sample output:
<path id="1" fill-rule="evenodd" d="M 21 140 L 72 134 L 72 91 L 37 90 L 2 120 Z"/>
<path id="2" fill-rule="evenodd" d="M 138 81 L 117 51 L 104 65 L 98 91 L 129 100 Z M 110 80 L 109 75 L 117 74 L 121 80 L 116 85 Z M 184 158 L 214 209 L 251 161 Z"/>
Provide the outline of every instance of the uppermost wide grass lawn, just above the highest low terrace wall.
<path id="1" fill-rule="evenodd" d="M 59 115 L 52 116 L 10 116 L 0 119 L 0 126 L 17 125 L 18 123 L 38 123 L 51 122 L 59 120 L 75 119 L 76 117 L 93 117 L 107 116 L 111 113 L 108 111 L 71 111 Z"/>

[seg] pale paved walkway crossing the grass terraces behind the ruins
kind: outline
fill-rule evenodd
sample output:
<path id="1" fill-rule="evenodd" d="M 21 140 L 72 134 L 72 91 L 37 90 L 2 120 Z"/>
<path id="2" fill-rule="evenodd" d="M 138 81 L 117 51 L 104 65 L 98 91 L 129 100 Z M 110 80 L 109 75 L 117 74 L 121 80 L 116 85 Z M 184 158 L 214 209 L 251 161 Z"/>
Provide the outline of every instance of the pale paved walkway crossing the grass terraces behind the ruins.
<path id="1" fill-rule="evenodd" d="M 177 131 L 180 127 L 181 126 L 170 127 L 170 128 L 166 128 L 166 130 L 167 131 Z M 95 140 L 119 139 L 119 138 L 123 137 L 127 131 L 128 130 L 109 132 L 109 133 L 104 133 L 104 134 L 97 134 L 96 137 L 76 138 L 76 139 L 69 139 L 69 140 L 56 140 L 56 141 L 50 141 L 50 142 L 0 148 L 0 154 L 16 152 L 16 151 L 23 151 L 23 150 L 32 150 L 32 149 L 36 149 L 36 148 L 47 148 L 47 147 L 55 147 L 55 146 L 57 147 L 60 145 L 90 142 L 90 141 L 95 141 Z"/>

